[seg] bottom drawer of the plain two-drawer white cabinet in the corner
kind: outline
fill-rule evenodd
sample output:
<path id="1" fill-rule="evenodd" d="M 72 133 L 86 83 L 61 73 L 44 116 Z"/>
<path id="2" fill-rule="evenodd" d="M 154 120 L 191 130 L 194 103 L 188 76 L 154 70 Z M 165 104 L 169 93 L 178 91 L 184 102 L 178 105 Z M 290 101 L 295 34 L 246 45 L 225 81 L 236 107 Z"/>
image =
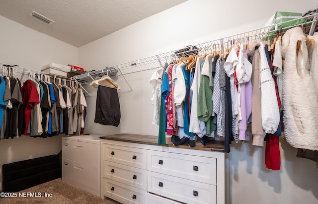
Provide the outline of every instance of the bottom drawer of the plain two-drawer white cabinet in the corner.
<path id="1" fill-rule="evenodd" d="M 100 180 L 97 167 L 63 158 L 62 179 L 66 183 L 100 196 Z"/>

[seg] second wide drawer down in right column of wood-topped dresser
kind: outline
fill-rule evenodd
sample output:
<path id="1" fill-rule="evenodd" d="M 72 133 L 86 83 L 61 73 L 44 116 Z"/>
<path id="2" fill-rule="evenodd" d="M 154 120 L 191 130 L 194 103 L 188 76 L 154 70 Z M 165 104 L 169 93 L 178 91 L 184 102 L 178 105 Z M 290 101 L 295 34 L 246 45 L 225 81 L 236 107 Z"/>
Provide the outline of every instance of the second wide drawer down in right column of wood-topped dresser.
<path id="1" fill-rule="evenodd" d="M 216 204 L 214 185 L 148 171 L 147 191 L 187 204 Z"/>

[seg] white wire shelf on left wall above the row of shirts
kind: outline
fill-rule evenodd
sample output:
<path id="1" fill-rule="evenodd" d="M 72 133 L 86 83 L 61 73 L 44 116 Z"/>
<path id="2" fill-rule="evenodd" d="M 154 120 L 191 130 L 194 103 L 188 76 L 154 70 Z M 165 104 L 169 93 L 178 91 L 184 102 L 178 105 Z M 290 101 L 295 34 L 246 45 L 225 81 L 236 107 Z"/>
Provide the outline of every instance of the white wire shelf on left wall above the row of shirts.
<path id="1" fill-rule="evenodd" d="M 44 80 L 45 78 L 44 76 L 50 77 L 51 79 L 53 79 L 54 82 L 59 79 L 61 79 L 61 81 L 69 81 L 70 83 L 73 82 L 73 80 L 71 80 L 68 77 L 53 75 L 53 74 L 49 74 L 45 72 L 40 72 L 40 71 L 20 67 L 18 65 L 11 65 L 7 63 L 1 63 L 1 62 L 0 62 L 0 72 L 2 72 L 3 75 L 4 74 L 8 75 L 10 73 L 10 75 L 13 75 L 14 77 L 19 76 L 21 82 L 23 81 L 24 77 L 28 77 L 28 78 L 33 77 L 39 80 Z M 75 81 L 75 83 L 76 83 L 76 86 L 79 86 L 84 91 L 85 96 L 90 97 L 90 94 L 86 91 L 85 88 L 81 86 L 81 84 L 78 81 Z"/>

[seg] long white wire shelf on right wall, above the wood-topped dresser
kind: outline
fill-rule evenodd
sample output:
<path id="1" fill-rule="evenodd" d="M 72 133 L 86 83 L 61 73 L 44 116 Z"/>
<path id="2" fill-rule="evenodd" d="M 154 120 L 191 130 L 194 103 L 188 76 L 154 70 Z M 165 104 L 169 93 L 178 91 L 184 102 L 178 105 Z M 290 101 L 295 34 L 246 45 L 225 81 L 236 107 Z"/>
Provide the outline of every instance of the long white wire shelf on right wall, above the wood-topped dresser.
<path id="1" fill-rule="evenodd" d="M 296 23 L 299 21 L 302 21 L 301 23 Z M 171 62 L 174 59 L 178 59 L 179 57 L 188 57 L 190 54 L 202 54 L 212 51 L 218 51 L 220 49 L 225 50 L 225 48 L 228 48 L 230 46 L 236 46 L 241 43 L 251 43 L 252 41 L 256 40 L 270 40 L 273 37 L 277 35 L 282 35 L 290 28 L 301 26 L 306 34 L 313 35 L 314 32 L 317 30 L 317 21 L 318 21 L 318 13 L 306 15 L 303 17 L 299 17 L 296 19 L 288 20 L 285 22 L 277 23 L 274 25 L 270 25 L 267 27 L 251 30 L 248 32 L 220 38 L 217 40 L 201 43 L 194 46 L 185 47 L 179 50 L 170 51 L 166 53 L 161 53 L 155 56 L 131 61 L 128 63 L 123 63 L 119 65 L 112 66 L 111 70 L 109 67 L 87 72 L 78 76 L 74 76 L 71 78 L 71 80 L 78 80 L 81 83 L 87 83 L 88 80 L 94 81 L 96 77 L 101 77 L 105 75 L 106 73 L 110 74 L 112 72 L 118 72 L 120 75 L 122 75 L 128 84 L 129 88 L 132 90 L 129 82 L 127 81 L 126 77 L 124 75 L 126 74 L 132 74 L 136 72 L 142 72 L 146 70 L 152 70 L 161 68 L 164 66 L 165 62 Z M 295 24 L 293 24 L 295 22 Z M 291 26 L 284 26 L 287 23 L 291 23 L 293 25 Z M 111 75 L 110 75 L 111 76 Z M 94 78 L 93 78 L 94 77 Z"/>

